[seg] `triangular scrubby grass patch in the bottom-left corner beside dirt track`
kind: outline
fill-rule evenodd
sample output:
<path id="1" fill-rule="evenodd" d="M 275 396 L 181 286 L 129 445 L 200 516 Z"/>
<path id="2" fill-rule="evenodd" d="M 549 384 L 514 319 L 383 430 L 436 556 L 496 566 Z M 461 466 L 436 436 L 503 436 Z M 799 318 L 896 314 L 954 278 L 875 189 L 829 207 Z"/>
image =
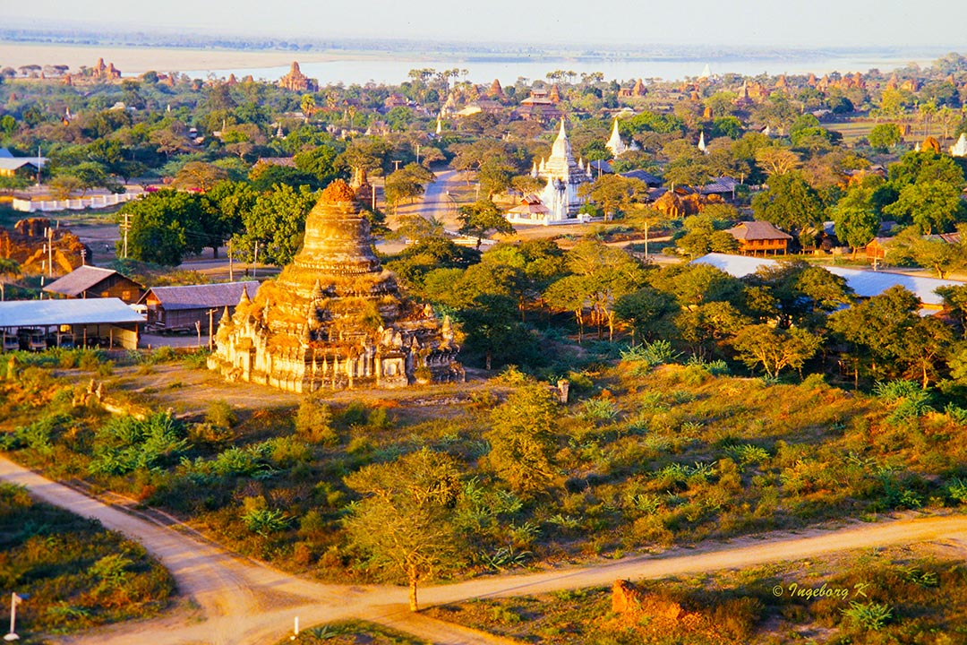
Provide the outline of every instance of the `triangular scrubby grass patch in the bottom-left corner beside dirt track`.
<path id="1" fill-rule="evenodd" d="M 44 634 L 154 616 L 174 581 L 139 544 L 0 484 L 0 589 L 27 597 L 20 642 L 40 643 Z"/>

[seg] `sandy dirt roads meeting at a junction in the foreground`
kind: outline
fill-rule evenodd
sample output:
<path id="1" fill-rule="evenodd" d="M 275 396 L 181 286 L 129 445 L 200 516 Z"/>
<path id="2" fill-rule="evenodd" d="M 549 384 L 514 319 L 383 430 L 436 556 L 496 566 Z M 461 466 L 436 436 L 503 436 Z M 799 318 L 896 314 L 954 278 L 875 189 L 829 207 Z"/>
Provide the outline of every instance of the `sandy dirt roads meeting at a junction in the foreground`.
<path id="1" fill-rule="evenodd" d="M 107 506 L 62 484 L 44 479 L 0 456 L 0 480 L 26 486 L 36 497 L 73 513 L 95 517 L 109 529 L 141 542 L 172 573 L 182 594 L 197 604 L 160 619 L 96 630 L 65 642 L 152 645 L 272 643 L 291 631 L 293 619 L 305 626 L 362 618 L 410 632 L 441 645 L 508 643 L 507 639 L 468 630 L 406 608 L 406 590 L 389 586 L 320 584 L 239 558 L 163 515 L 138 516 Z M 812 530 L 748 538 L 732 544 L 678 549 L 662 556 L 628 557 L 580 568 L 495 575 L 421 591 L 425 604 L 486 596 L 518 596 L 609 585 L 615 579 L 662 578 L 694 572 L 739 569 L 810 558 L 846 549 L 915 542 L 952 542 L 967 548 L 967 516 L 939 516 L 852 524 L 837 530 Z M 135 638 L 136 634 L 136 638 Z"/>

